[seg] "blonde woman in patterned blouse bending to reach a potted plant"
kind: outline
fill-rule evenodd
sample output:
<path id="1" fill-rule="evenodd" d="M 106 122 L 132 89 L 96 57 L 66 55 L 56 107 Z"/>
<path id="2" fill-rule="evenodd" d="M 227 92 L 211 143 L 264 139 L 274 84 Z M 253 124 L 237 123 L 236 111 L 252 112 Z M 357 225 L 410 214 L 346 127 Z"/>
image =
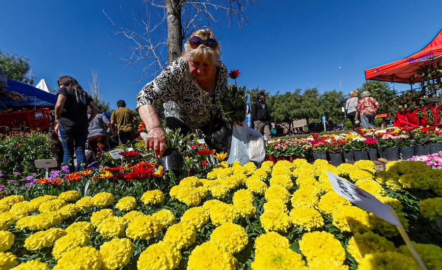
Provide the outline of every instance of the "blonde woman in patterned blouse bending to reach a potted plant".
<path id="1" fill-rule="evenodd" d="M 152 148 L 156 157 L 163 156 L 166 140 L 155 106 L 164 104 L 166 126 L 183 133 L 201 129 L 207 135 L 222 121 L 227 69 L 220 56 L 213 32 L 197 30 L 184 44 L 182 56 L 139 91 L 137 109 L 146 124 L 146 149 Z"/>

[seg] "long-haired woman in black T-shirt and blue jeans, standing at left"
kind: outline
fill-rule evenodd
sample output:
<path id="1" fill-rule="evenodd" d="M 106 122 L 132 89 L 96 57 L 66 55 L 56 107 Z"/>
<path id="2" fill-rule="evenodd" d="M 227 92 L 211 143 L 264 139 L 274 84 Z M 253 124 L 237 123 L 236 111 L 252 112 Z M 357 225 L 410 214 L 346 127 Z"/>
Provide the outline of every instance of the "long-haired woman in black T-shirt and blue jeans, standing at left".
<path id="1" fill-rule="evenodd" d="M 82 170 L 86 164 L 86 140 L 88 125 L 99 109 L 91 96 L 84 92 L 80 84 L 71 76 L 60 77 L 60 88 L 55 103 L 55 122 L 58 136 L 63 145 L 63 163 L 69 165 L 69 171 Z M 92 113 L 87 117 L 87 106 Z M 74 150 L 77 166 L 74 166 Z"/>

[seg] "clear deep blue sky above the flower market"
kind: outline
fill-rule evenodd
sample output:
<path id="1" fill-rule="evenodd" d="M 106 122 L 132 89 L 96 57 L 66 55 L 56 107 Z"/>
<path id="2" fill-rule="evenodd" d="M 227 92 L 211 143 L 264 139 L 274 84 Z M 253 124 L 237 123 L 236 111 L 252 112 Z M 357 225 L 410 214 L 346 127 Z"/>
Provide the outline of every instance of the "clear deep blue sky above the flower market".
<path id="1" fill-rule="evenodd" d="M 37 83 L 52 88 L 62 75 L 88 89 L 91 69 L 98 72 L 101 94 L 116 108 L 135 96 L 153 77 L 141 82 L 142 66 L 124 66 L 127 56 L 117 44 L 103 9 L 117 23 L 141 1 L 14 0 L 3 1 L 0 50 L 29 58 Z M 427 0 L 261 0 L 248 12 L 242 31 L 221 21 L 213 27 L 228 70 L 239 69 L 239 85 L 276 91 L 318 87 L 344 93 L 360 87 L 364 70 L 406 57 L 422 49 L 442 27 L 442 1 Z M 117 44 L 116 44 L 116 43 Z M 393 87 L 393 84 L 390 84 Z M 408 89 L 394 84 L 396 90 Z"/>

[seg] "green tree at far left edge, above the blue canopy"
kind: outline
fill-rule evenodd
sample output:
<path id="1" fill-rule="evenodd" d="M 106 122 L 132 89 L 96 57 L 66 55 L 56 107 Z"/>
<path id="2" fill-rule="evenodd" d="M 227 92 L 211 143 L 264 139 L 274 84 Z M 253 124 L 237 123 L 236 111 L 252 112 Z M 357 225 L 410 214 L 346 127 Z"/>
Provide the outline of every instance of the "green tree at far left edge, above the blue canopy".
<path id="1" fill-rule="evenodd" d="M 0 66 L 6 78 L 33 84 L 35 78 L 32 76 L 28 58 L 14 53 L 0 51 Z"/>

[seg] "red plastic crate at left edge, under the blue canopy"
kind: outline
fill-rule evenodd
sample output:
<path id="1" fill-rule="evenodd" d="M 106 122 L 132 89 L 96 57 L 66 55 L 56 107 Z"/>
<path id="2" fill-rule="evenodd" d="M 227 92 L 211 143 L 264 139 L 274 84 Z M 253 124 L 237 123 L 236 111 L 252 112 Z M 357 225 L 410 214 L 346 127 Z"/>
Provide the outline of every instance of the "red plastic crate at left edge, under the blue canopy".
<path id="1" fill-rule="evenodd" d="M 0 113 L 0 133 L 44 130 L 51 127 L 49 108 Z"/>

